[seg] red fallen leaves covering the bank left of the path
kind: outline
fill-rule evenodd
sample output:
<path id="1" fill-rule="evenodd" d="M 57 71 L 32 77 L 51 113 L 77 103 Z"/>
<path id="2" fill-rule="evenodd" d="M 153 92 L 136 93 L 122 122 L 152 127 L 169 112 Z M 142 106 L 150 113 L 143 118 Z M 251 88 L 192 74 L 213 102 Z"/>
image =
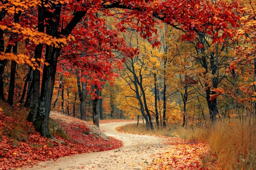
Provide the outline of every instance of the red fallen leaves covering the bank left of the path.
<path id="1" fill-rule="evenodd" d="M 110 137 L 108 137 L 108 140 L 95 134 L 79 134 L 88 130 L 86 123 L 82 121 L 78 124 L 74 124 L 75 122 L 61 124 L 65 130 L 68 130 L 67 134 L 70 135 L 70 140 L 61 139 L 65 141 L 65 144 L 41 137 L 38 132 L 34 131 L 33 125 L 26 121 L 24 128 L 32 129 L 27 140 L 14 143 L 14 140 L 8 134 L 8 131 L 14 128 L 12 126 L 13 122 L 18 121 L 0 113 L 0 170 L 32 166 L 38 161 L 54 160 L 84 152 L 111 150 L 122 146 L 121 141 Z M 22 137 L 22 135 L 20 136 Z M 60 137 L 57 138 L 60 139 Z"/>

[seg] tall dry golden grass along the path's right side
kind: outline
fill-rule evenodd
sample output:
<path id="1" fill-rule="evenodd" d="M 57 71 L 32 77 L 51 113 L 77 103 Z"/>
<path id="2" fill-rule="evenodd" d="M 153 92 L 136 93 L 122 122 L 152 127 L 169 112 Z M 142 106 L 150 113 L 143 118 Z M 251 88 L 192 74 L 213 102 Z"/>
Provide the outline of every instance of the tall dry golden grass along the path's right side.
<path id="1" fill-rule="evenodd" d="M 256 122 L 231 117 L 214 124 L 206 122 L 204 128 L 168 126 L 166 129 L 146 130 L 146 125 L 130 124 L 121 130 L 134 133 L 166 135 L 187 140 L 207 141 L 210 152 L 204 161 L 215 162 L 211 169 L 256 170 Z"/>

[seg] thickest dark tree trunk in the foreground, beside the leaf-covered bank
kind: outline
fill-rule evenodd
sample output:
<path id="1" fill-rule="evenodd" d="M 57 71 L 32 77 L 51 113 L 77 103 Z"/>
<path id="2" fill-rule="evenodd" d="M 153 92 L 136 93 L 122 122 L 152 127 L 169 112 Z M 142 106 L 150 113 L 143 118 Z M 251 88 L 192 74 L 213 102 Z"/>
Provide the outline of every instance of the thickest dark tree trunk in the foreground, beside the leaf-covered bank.
<path id="1" fill-rule="evenodd" d="M 47 20 L 46 33 L 58 37 L 59 16 L 61 13 L 61 6 L 56 6 L 52 18 Z M 59 48 L 55 46 L 46 46 L 45 62 L 43 68 L 42 87 L 40 91 L 39 108 L 34 121 L 34 127 L 42 136 L 47 138 L 54 138 L 48 130 L 48 120 L 52 104 L 52 95 L 54 88 L 54 80 L 57 66 L 57 59 L 60 55 Z"/>

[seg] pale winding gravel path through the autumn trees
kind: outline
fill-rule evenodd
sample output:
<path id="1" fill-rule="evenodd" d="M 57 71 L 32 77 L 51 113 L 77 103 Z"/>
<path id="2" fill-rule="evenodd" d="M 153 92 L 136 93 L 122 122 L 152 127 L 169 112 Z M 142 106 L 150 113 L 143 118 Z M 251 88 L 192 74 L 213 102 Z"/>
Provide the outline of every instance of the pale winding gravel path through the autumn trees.
<path id="1" fill-rule="evenodd" d="M 110 137 L 124 142 L 124 146 L 116 150 L 84 153 L 62 157 L 56 161 L 38 163 L 38 166 L 22 170 L 142 170 L 147 169 L 153 161 L 152 154 L 164 152 L 170 145 L 164 145 L 163 139 L 150 135 L 121 133 L 116 127 L 130 122 L 101 124 L 100 128 Z"/>

